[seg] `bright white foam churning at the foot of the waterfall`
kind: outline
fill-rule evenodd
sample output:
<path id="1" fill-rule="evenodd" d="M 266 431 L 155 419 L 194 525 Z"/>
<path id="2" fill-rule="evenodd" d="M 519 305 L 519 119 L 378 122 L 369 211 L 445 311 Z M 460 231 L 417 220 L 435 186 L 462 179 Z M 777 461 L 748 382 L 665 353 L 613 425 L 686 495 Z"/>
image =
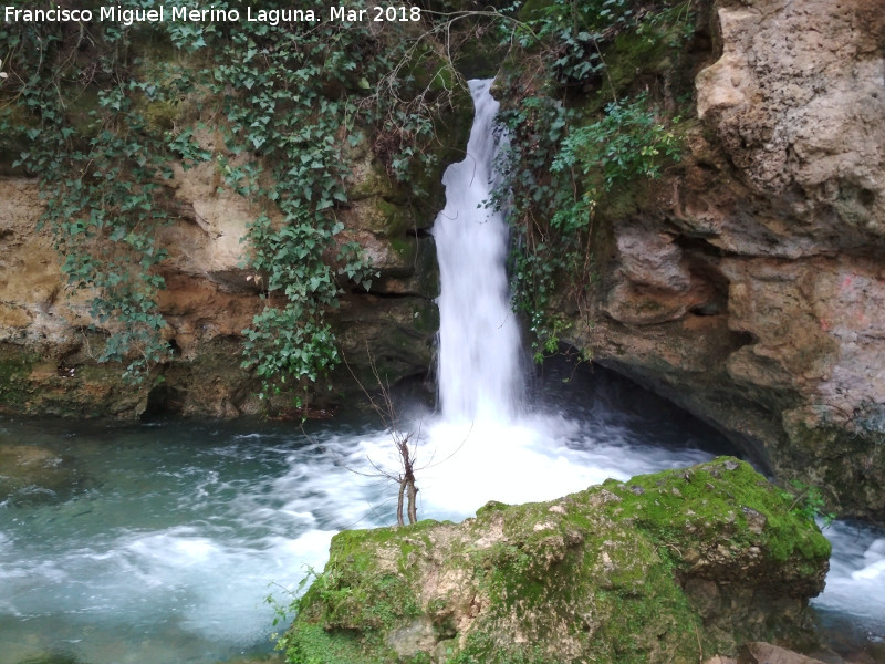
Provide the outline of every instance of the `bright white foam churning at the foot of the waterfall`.
<path id="1" fill-rule="evenodd" d="M 415 423 L 406 430 L 416 435 L 420 430 L 415 471 L 421 518 L 462 519 L 489 500 L 552 500 L 610 477 L 623 480 L 710 458 L 698 450 L 631 446 L 626 439 L 623 444 L 600 444 L 593 440 L 592 432 L 582 432 L 577 423 L 560 417 L 533 417 L 510 424 L 436 419 Z M 363 478 L 362 490 L 372 484 L 366 476 L 377 474 L 367 459 L 392 475 L 399 473 L 389 434 L 362 439 L 347 456 L 352 468 L 364 474 L 354 478 Z M 374 484 L 392 504 L 396 487 L 379 480 Z M 352 507 L 347 511 L 356 516 L 361 506 L 357 502 Z M 365 509 L 365 505 L 362 507 Z"/>

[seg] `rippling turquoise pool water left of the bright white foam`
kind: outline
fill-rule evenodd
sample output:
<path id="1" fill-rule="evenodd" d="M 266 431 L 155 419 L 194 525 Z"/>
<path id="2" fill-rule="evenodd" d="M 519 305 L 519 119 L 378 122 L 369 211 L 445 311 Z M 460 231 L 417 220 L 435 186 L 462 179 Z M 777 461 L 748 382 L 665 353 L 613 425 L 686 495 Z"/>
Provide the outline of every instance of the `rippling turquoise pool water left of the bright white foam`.
<path id="1" fill-rule="evenodd" d="M 40 453 L 33 481 L 0 504 L 0 663 L 268 650 L 270 584 L 321 564 L 331 532 L 348 525 L 315 483 L 275 488 L 299 473 L 295 459 L 324 455 L 272 429 L 69 426 L 0 429 L 0 449 Z"/>

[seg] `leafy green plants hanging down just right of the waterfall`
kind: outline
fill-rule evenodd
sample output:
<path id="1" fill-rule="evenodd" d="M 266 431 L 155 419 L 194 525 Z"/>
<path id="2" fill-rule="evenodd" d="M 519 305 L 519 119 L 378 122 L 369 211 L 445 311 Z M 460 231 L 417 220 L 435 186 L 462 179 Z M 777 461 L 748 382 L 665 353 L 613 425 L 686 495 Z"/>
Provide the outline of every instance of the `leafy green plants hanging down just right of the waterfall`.
<path id="1" fill-rule="evenodd" d="M 590 309 L 600 204 L 660 177 L 681 154 L 678 117 L 666 117 L 645 91 L 615 89 L 605 53 L 627 34 L 642 44 L 666 35 L 664 51 L 680 48 L 674 25 L 688 24 L 688 3 L 638 9 L 629 0 L 554 0 L 528 2 L 520 13 L 525 53 L 513 61 L 540 64 L 529 81 L 518 65 L 501 82 L 499 122 L 510 142 L 490 204 L 508 212 L 514 230 L 514 308 L 529 321 L 537 361 L 556 352 L 572 325 L 555 311 Z M 676 33 L 687 35 L 685 28 Z M 590 101 L 585 90 L 594 91 Z"/>

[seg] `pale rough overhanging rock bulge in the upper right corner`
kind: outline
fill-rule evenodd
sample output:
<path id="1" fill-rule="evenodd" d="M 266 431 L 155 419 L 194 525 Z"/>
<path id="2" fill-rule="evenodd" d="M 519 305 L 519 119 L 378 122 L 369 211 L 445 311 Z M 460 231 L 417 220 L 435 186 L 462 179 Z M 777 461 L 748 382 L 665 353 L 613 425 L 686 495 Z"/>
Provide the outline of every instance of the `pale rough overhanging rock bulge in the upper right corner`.
<path id="1" fill-rule="evenodd" d="M 800 190 L 882 236 L 882 4 L 728 2 L 718 19 L 723 52 L 697 77 L 698 114 L 735 164 L 754 188 Z"/>

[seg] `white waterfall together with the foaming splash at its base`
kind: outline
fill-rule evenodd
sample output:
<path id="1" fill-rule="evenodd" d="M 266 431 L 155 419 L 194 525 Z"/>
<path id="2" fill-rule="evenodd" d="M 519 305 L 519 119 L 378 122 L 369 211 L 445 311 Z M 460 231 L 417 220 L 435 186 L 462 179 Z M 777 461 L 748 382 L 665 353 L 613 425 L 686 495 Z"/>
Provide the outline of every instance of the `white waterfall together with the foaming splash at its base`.
<path id="1" fill-rule="evenodd" d="M 423 513 L 437 518 L 462 518 L 488 500 L 549 500 L 607 477 L 626 478 L 627 466 L 660 468 L 675 459 L 620 443 L 608 447 L 606 438 L 617 427 L 585 428 L 570 415 L 520 407 L 522 346 L 510 308 L 508 226 L 488 206 L 501 145 L 491 84 L 469 82 L 473 126 L 464 160 L 442 176 L 446 207 L 433 228 L 440 272 L 441 416 L 419 423 L 415 432 Z M 586 446 L 589 439 L 593 444 Z M 683 460 L 706 456 L 683 454 Z"/>

